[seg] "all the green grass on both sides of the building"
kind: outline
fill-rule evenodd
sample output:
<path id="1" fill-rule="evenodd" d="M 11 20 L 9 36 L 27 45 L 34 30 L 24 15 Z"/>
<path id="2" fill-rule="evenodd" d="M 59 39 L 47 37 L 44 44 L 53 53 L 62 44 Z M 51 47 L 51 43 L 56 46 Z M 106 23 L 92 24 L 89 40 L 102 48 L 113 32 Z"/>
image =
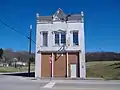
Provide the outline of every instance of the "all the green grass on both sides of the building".
<path id="1" fill-rule="evenodd" d="M 101 77 L 105 79 L 120 79 L 120 61 L 94 61 L 87 62 L 87 77 Z M 34 65 L 31 65 L 31 71 L 34 71 Z M 0 72 L 25 72 L 28 67 L 21 69 L 14 67 L 0 67 Z"/>

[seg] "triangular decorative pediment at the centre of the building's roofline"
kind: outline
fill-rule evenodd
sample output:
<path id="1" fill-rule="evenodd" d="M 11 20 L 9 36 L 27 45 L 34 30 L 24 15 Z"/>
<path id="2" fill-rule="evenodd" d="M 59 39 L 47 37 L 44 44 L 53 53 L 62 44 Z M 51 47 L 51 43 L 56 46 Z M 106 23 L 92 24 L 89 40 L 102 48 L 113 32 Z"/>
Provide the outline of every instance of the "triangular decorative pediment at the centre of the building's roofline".
<path id="1" fill-rule="evenodd" d="M 65 13 L 62 9 L 58 9 L 57 12 L 53 15 L 53 21 L 64 21 L 65 20 Z"/>

